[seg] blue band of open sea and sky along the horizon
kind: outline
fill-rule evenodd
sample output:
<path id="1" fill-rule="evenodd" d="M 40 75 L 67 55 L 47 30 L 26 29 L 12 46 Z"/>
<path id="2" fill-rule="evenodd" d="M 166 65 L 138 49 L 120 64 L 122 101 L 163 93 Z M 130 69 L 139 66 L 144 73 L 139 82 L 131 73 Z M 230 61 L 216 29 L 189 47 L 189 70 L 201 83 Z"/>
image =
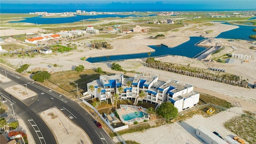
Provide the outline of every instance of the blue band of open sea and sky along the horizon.
<path id="1" fill-rule="evenodd" d="M 57 0 L 58 1 L 58 0 Z M 76 10 L 85 10 L 86 12 L 221 12 L 221 11 L 252 11 L 256 10 L 256 1 L 254 0 L 133 0 L 126 1 L 110 1 L 110 0 L 95 0 L 87 1 L 51 1 L 37 2 L 31 0 L 2 0 L 0 4 L 0 13 L 9 14 L 26 14 L 30 12 L 76 12 Z M 77 2 L 77 3 L 76 3 Z"/>

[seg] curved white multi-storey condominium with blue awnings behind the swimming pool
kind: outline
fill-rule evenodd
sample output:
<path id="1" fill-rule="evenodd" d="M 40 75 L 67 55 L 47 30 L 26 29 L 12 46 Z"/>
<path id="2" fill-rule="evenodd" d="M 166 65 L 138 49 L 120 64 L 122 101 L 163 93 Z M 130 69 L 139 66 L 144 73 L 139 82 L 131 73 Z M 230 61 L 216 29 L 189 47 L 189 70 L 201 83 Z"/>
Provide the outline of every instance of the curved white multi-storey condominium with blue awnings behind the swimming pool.
<path id="1" fill-rule="evenodd" d="M 131 82 L 130 86 L 127 85 L 128 81 Z M 94 91 L 91 91 L 89 86 L 94 86 Z M 119 92 L 119 87 L 122 87 L 122 92 Z M 88 83 L 87 90 L 84 95 L 91 94 L 93 98 L 101 101 L 109 98 L 113 101 L 114 94 L 119 94 L 122 99 L 135 100 L 135 104 L 141 100 L 138 98 L 139 93 L 144 92 L 143 102 L 160 105 L 169 101 L 179 112 L 192 108 L 199 102 L 199 94 L 193 91 L 193 86 L 180 84 L 175 80 L 164 82 L 158 80 L 158 76 L 143 74 L 136 74 L 133 78 L 124 78 L 122 74 L 102 75 L 99 80 Z"/>

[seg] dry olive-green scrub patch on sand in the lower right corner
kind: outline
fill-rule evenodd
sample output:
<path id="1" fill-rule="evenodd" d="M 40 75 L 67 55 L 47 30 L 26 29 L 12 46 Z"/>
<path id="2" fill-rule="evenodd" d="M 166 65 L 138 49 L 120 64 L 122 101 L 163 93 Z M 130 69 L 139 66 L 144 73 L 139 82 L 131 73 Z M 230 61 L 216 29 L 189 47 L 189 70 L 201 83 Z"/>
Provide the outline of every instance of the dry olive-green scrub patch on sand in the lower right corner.
<path id="1" fill-rule="evenodd" d="M 242 116 L 235 116 L 224 123 L 225 128 L 246 140 L 249 144 L 256 143 L 256 115 L 244 111 Z"/>

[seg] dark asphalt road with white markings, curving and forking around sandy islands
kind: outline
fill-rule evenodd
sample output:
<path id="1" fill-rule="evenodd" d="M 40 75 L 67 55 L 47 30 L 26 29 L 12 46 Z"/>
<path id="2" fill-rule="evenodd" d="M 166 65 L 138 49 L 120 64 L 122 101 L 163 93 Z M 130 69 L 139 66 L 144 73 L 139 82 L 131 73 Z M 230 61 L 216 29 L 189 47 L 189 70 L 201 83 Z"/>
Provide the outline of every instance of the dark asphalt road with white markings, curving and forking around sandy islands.
<path id="1" fill-rule="evenodd" d="M 0 73 L 5 76 L 4 70 L 6 69 L 3 67 L 0 67 L 0 69 L 1 69 Z M 62 94 L 55 92 L 54 90 L 51 90 L 50 88 L 42 86 L 36 82 L 33 82 L 29 78 L 21 76 L 20 74 L 13 73 L 10 70 L 6 70 L 6 74 L 7 74 L 7 77 L 10 78 L 12 81 L 1 83 L 1 92 L 3 92 L 4 94 L 6 94 L 6 96 L 15 100 L 16 102 L 14 104 L 15 112 L 22 119 L 24 119 L 24 121 L 32 118 L 35 121 L 35 123 L 38 125 L 38 128 L 40 129 L 40 131 L 42 131 L 42 135 L 44 137 L 47 137 L 47 140 L 53 137 L 52 132 L 50 132 L 49 128 L 45 126 L 45 124 L 42 124 L 44 122 L 42 122 L 42 119 L 39 117 L 39 114 L 44 110 L 55 107 L 58 109 L 62 109 L 62 112 L 66 116 L 71 114 L 74 117 L 73 119 L 71 119 L 72 122 L 80 126 L 88 134 L 88 136 L 90 137 L 90 139 L 94 144 L 113 144 L 114 143 L 102 128 L 98 128 L 94 124 L 95 118 L 92 117 L 86 110 L 84 110 L 79 104 L 77 104 L 73 100 L 70 100 L 66 96 L 60 96 Z M 38 97 L 37 98 L 32 97 L 32 98 L 36 98 L 36 100 L 35 99 L 32 100 L 32 98 L 28 98 L 30 100 L 26 100 L 26 102 L 28 101 L 34 101 L 34 102 L 29 106 L 27 106 L 23 102 L 20 102 L 20 100 L 14 98 L 14 96 L 10 96 L 10 94 L 7 94 L 6 92 L 4 92 L 4 88 L 7 88 L 11 85 L 16 85 L 12 83 L 27 84 L 28 89 L 36 92 L 38 94 Z M 37 136 L 35 135 L 34 129 L 32 128 L 31 124 L 28 122 L 26 122 L 26 124 L 28 125 L 28 128 L 30 129 L 33 137 L 36 139 Z M 48 135 L 51 135 L 51 136 L 48 137 Z M 36 143 L 38 142 L 36 141 Z M 54 144 L 56 142 L 53 142 L 53 140 L 51 140 L 50 142 L 46 142 L 46 143 Z"/>

